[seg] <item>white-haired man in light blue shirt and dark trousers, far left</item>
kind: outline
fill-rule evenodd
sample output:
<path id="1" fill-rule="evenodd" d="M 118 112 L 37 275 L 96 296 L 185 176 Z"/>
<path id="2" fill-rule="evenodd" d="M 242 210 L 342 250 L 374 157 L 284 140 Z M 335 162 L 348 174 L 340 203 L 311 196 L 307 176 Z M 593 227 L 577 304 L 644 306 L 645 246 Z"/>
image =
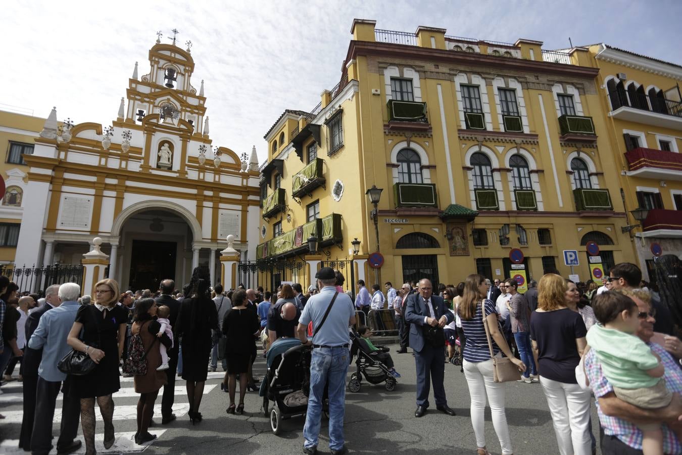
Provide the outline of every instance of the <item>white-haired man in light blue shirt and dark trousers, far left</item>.
<path id="1" fill-rule="evenodd" d="M 29 348 L 43 349 L 42 360 L 38 367 L 35 417 L 33 418 L 33 435 L 31 435 L 31 452 L 34 455 L 46 455 L 53 448 L 51 439 L 55 405 L 61 382 L 66 379 L 65 373 L 57 368 L 57 363 L 72 349 L 66 344 L 66 338 L 74 325 L 76 312 L 80 308 L 76 300 L 78 295 L 80 295 L 78 284 L 62 284 L 59 287 L 61 304 L 43 314 L 29 340 Z M 81 442 L 74 441 L 79 420 L 80 400 L 65 394 L 61 408 L 61 432 L 57 441 L 59 454 L 70 454 L 80 449 Z"/>

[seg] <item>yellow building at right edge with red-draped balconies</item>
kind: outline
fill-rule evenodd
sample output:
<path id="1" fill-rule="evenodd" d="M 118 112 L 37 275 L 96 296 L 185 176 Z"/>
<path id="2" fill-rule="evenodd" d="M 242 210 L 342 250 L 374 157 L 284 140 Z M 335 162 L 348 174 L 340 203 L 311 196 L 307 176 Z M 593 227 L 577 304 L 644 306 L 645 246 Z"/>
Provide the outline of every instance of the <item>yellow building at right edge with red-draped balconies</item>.
<path id="1" fill-rule="evenodd" d="M 589 46 L 644 279 L 655 254 L 682 255 L 682 66 L 606 44 Z M 617 196 L 617 195 L 614 195 Z"/>

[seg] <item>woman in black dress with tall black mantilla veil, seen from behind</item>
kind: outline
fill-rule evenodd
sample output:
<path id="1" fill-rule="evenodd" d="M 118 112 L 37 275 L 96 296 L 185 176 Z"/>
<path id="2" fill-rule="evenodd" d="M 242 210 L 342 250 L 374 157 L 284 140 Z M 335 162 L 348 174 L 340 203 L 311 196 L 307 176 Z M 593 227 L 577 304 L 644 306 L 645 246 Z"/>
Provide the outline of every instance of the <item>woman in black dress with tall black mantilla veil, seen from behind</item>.
<path id="1" fill-rule="evenodd" d="M 175 333 L 182 338 L 182 379 L 187 381 L 190 420 L 201 422 L 201 397 L 208 377 L 211 329 L 218 329 L 218 312 L 211 300 L 211 279 L 207 267 L 196 267 L 177 315 Z"/>

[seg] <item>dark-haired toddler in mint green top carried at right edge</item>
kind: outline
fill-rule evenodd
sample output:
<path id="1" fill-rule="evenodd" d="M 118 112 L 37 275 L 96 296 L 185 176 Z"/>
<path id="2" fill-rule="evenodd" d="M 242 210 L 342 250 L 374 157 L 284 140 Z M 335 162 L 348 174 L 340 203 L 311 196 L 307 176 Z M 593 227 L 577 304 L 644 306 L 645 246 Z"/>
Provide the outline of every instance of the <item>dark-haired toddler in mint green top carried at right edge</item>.
<path id="1" fill-rule="evenodd" d="M 588 349 L 597 351 L 604 376 L 616 396 L 644 409 L 668 406 L 672 394 L 663 379 L 661 359 L 634 335 L 640 327 L 637 304 L 627 295 L 606 291 L 595 296 L 592 308 L 599 325 L 587 332 Z M 642 430 L 644 455 L 663 455 L 661 424 L 638 427 Z"/>

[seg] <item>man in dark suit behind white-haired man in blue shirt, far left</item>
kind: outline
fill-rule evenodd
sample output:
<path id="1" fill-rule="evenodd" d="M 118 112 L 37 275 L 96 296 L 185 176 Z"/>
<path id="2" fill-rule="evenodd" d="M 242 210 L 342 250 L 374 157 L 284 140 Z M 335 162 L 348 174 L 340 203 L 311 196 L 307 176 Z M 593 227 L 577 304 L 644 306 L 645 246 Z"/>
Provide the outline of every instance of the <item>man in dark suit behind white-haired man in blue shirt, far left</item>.
<path id="1" fill-rule="evenodd" d="M 38 310 L 31 312 L 29 319 L 26 320 L 27 340 L 31 339 L 31 335 L 38 327 L 42 315 L 59 306 L 59 303 L 59 284 L 53 284 L 45 290 L 45 304 Z M 21 421 L 19 448 L 27 451 L 31 450 L 31 435 L 33 435 L 33 419 L 35 417 L 35 393 L 38 390 L 38 367 L 42 360 L 42 351 L 42 348 L 29 348 L 27 343 L 24 349 L 24 357 L 21 360 L 24 413 Z"/>

